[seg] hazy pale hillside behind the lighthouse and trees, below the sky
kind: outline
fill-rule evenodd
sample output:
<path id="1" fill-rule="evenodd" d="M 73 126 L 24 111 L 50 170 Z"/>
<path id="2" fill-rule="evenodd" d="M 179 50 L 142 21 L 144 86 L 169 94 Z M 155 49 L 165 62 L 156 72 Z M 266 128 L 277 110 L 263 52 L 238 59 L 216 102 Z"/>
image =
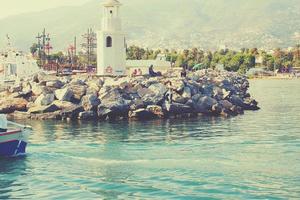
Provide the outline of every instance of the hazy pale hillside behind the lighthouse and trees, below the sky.
<path id="1" fill-rule="evenodd" d="M 121 0 L 123 27 L 130 44 L 187 48 L 291 46 L 300 32 L 300 0 Z M 98 29 L 101 0 L 0 20 L 0 37 L 28 49 L 46 27 L 56 49 L 88 27 Z M 1 39 L 0 45 L 3 45 Z"/>

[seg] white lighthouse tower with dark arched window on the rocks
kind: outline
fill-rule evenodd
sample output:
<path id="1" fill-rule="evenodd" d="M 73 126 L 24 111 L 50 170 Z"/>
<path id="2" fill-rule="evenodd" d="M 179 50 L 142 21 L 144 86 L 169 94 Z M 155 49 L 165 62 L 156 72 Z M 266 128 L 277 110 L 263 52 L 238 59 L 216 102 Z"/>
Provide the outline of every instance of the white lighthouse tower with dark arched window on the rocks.
<path id="1" fill-rule="evenodd" d="M 117 0 L 103 3 L 102 30 L 97 32 L 97 75 L 124 75 L 126 40 L 122 32 L 120 6 Z"/>

